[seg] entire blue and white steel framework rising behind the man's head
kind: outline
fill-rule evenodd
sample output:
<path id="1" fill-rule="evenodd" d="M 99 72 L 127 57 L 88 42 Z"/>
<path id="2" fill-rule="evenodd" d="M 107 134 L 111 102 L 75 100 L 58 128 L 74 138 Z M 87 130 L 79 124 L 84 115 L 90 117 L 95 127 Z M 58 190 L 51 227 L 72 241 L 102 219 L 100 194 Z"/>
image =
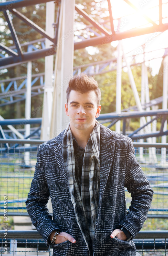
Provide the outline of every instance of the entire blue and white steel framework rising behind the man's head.
<path id="1" fill-rule="evenodd" d="M 28 5 L 34 5 L 34 4 L 40 4 L 40 3 L 46 3 L 48 4 L 50 1 L 44 1 L 44 0 L 13 0 L 13 1 L 6 1 L 3 3 L 0 3 L 0 11 L 3 11 L 4 17 L 8 23 L 11 35 L 13 37 L 14 45 L 10 47 L 6 47 L 2 43 L 0 44 L 0 65 L 1 68 L 8 68 L 15 65 L 19 65 L 24 62 L 28 62 L 30 64 L 30 61 L 45 57 L 46 61 L 47 58 L 53 56 L 56 54 L 56 62 L 55 62 L 55 81 L 54 86 L 52 85 L 52 82 L 50 84 L 46 84 L 46 81 L 48 81 L 48 78 L 51 78 L 52 70 L 53 70 L 53 64 L 49 62 L 53 62 L 53 59 L 49 62 L 45 63 L 45 73 L 44 74 L 37 74 L 37 75 L 31 75 L 31 77 L 27 76 L 25 78 L 11 78 L 8 80 L 2 80 L 1 83 L 1 90 L 0 93 L 0 106 L 4 106 L 7 104 L 12 104 L 14 102 L 18 102 L 21 100 L 27 100 L 29 95 L 29 103 L 30 105 L 30 98 L 34 95 L 38 95 L 44 92 L 44 103 L 46 104 L 46 108 L 43 112 L 43 122 L 42 122 L 42 133 L 43 136 L 45 134 L 49 134 L 48 130 L 50 130 L 50 136 L 53 136 L 55 134 L 56 130 L 62 130 L 64 126 L 67 123 L 67 120 L 62 118 L 63 108 L 64 108 L 64 101 L 65 99 L 65 91 L 67 87 L 67 81 L 65 81 L 65 78 L 70 78 L 72 74 L 79 74 L 80 72 L 86 72 L 89 76 L 94 76 L 97 74 L 103 74 L 106 72 L 113 71 L 117 69 L 117 92 L 116 92 L 116 102 L 118 102 L 118 105 L 116 105 L 116 116 L 112 114 L 112 116 L 108 119 L 111 120 L 109 127 L 111 127 L 113 124 L 116 123 L 116 129 L 118 132 L 120 132 L 120 120 L 123 119 L 123 134 L 125 134 L 125 124 L 126 124 L 126 116 L 127 118 L 132 116 L 132 112 L 130 113 L 130 110 L 139 111 L 141 113 L 140 115 L 138 112 L 136 113 L 137 116 L 141 116 L 141 124 L 140 128 L 137 129 L 134 133 L 130 134 L 129 136 L 134 138 L 136 136 L 136 133 L 138 133 L 142 129 L 146 129 L 149 132 L 145 133 L 147 134 L 146 137 L 152 137 L 152 134 L 157 136 L 162 136 L 167 134 L 167 130 L 165 129 L 167 119 L 162 119 L 162 125 L 160 132 L 154 132 L 151 131 L 150 124 L 155 121 L 156 117 L 153 117 L 153 119 L 150 118 L 152 114 L 149 114 L 147 116 L 147 120 L 145 120 L 145 112 L 148 111 L 150 106 L 157 105 L 160 102 L 164 102 L 164 110 L 166 111 L 166 99 L 165 95 L 164 98 L 160 97 L 158 99 L 155 99 L 153 101 L 149 100 L 149 91 L 146 91 L 146 100 L 144 101 L 144 95 L 141 98 L 141 101 L 138 96 L 138 92 L 136 90 L 135 82 L 132 76 L 132 72 L 130 69 L 131 65 L 136 65 L 136 61 L 134 63 L 129 64 L 127 61 L 127 57 L 123 54 L 123 56 L 119 56 L 117 58 L 105 60 L 105 61 L 99 61 L 90 63 L 87 65 L 81 65 L 78 67 L 74 67 L 73 72 L 73 50 L 85 48 L 87 46 L 96 46 L 96 45 L 105 45 L 109 42 L 120 40 L 119 46 L 118 46 L 118 52 L 121 52 L 122 46 L 121 46 L 121 39 L 129 38 L 129 37 L 135 37 L 139 35 L 149 34 L 149 33 L 156 33 L 156 32 L 163 32 L 168 29 L 168 23 L 165 23 L 165 20 L 162 18 L 162 10 L 164 8 L 164 4 L 161 0 L 159 0 L 159 18 L 158 20 L 152 20 L 147 15 L 141 13 L 142 17 L 148 22 L 148 26 L 144 27 L 138 27 L 131 30 L 125 30 L 120 32 L 118 27 L 119 24 L 122 22 L 124 17 L 119 17 L 113 19 L 113 10 L 111 7 L 110 0 L 107 0 L 108 3 L 108 11 L 109 11 L 109 18 L 106 19 L 104 22 L 97 22 L 94 20 L 91 15 L 85 12 L 84 9 L 81 9 L 80 5 L 77 5 L 74 3 L 74 0 L 66 2 L 65 0 L 57 1 L 58 3 L 58 12 L 57 12 L 57 18 L 56 23 L 54 24 L 55 31 L 54 36 L 52 36 L 52 33 L 48 33 L 47 29 L 46 31 L 41 29 L 37 24 L 33 23 L 30 19 L 28 19 L 25 15 L 23 15 L 21 12 L 17 10 L 18 7 L 28 6 Z M 124 4 L 129 5 L 132 9 L 139 11 L 135 5 L 133 5 L 128 0 L 123 0 Z M 69 8 L 69 9 L 68 9 Z M 71 12 L 69 11 L 71 10 Z M 78 15 L 82 15 L 84 19 L 86 19 L 87 22 L 90 23 L 90 25 L 85 25 L 83 28 L 79 30 L 75 30 L 74 33 L 70 33 L 70 29 L 73 27 L 74 23 L 74 13 L 75 11 L 78 13 Z M 15 15 L 18 19 L 21 19 L 25 24 L 28 26 L 34 28 L 38 33 L 40 33 L 43 38 L 39 40 L 34 40 L 33 42 L 26 42 L 27 43 L 27 52 L 23 52 L 22 46 L 25 47 L 25 44 L 20 44 L 19 39 L 17 37 L 17 33 L 14 29 L 14 26 L 12 24 L 12 19 L 10 15 Z M 46 11 L 47 14 L 47 11 Z M 69 16 L 68 16 L 68 15 Z M 48 15 L 49 16 L 49 15 Z M 46 18 L 48 17 L 46 16 Z M 114 26 L 114 21 L 118 22 L 118 27 L 116 28 Z M 52 23 L 51 23 L 52 24 Z M 80 33 L 79 33 L 80 32 Z M 66 38 L 67 33 L 69 34 L 68 38 L 66 40 L 63 40 Z M 75 34 L 75 37 L 74 37 Z M 85 35 L 84 35 L 85 34 Z M 48 40 L 50 44 L 44 43 L 45 40 Z M 35 44 L 37 41 L 40 41 L 41 48 L 38 49 L 35 47 Z M 51 47 L 48 47 L 48 46 Z M 71 50 L 69 50 L 69 48 Z M 163 55 L 163 58 L 167 57 L 167 49 L 165 49 L 165 54 Z M 145 53 L 144 53 L 145 57 Z M 121 111 L 121 70 L 124 66 L 122 66 L 122 58 L 125 60 L 125 66 L 128 68 L 129 73 L 129 79 L 130 84 L 134 93 L 134 97 L 136 100 L 136 106 L 125 110 L 127 112 L 126 116 L 122 114 L 123 111 Z M 135 56 L 132 56 L 132 59 L 134 60 Z M 48 63 L 48 64 L 47 64 Z M 165 62 L 167 63 L 167 61 Z M 147 82 L 146 78 L 146 68 L 144 66 L 144 62 L 141 63 L 142 65 L 142 80 L 143 84 Z M 29 65 L 31 69 L 31 64 Z M 44 76 L 45 76 L 45 82 L 44 82 Z M 167 73 L 164 74 L 165 81 Z M 32 80 L 33 78 L 33 80 Z M 29 83 L 28 83 L 29 79 Z M 17 84 L 17 81 L 20 80 L 19 85 Z M 37 84 L 37 82 L 39 83 Z M 50 80 L 51 81 L 51 80 Z M 6 86 L 6 83 L 8 85 Z M 5 88 L 4 88 L 5 84 Z M 29 84 L 29 89 L 23 89 L 24 85 Z M 164 82 L 164 88 L 166 92 L 166 82 Z M 61 85 L 61 86 L 60 86 Z M 11 88 L 14 88 L 13 91 L 11 91 Z M 43 91 L 44 89 L 44 91 Z M 29 92 L 28 92 L 29 91 Z M 142 90 L 143 92 L 143 90 Z M 26 96 L 27 95 L 27 96 Z M 167 94 L 166 94 L 167 95 Z M 26 103 L 27 104 L 27 103 Z M 144 110 L 146 110 L 144 112 Z M 167 113 L 167 112 L 166 112 Z M 28 114 L 27 114 L 28 116 Z M 51 118 L 52 116 L 52 118 Z M 101 115 L 102 116 L 102 115 Z M 164 116 L 167 116 L 167 114 L 164 114 Z M 25 116 L 26 120 L 28 118 Z M 30 119 L 30 116 L 29 116 Z M 114 119 L 114 120 L 112 120 Z M 3 122 L 5 120 L 2 120 Z M 12 123 L 11 123 L 12 124 Z M 28 122 L 26 123 L 26 125 Z M 8 124 L 10 125 L 10 124 Z M 46 125 L 46 126 L 45 126 Z M 148 129 L 147 129 L 148 127 Z M 29 126 L 29 133 L 27 132 L 24 137 L 30 137 L 30 126 Z M 20 135 L 20 138 L 22 138 L 23 135 Z M 49 135 L 47 135 L 49 136 Z M 3 133 L 1 133 L 1 137 L 4 137 Z M 143 138 L 146 138 L 145 135 Z M 48 137 L 41 137 L 44 140 Z M 138 138 L 138 137 L 137 137 Z M 149 143 L 152 143 L 152 141 L 148 141 Z M 165 141 L 164 141 L 165 142 Z"/>

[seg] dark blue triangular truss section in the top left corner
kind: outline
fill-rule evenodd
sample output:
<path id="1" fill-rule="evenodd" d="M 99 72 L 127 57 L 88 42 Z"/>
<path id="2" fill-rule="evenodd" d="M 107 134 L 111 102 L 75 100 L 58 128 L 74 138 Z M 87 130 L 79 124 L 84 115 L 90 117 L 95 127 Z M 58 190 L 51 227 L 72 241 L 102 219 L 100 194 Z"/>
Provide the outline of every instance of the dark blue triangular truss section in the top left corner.
<path id="1" fill-rule="evenodd" d="M 0 44 L 1 49 L 5 50 L 8 54 L 12 55 L 9 57 L 0 58 L 0 66 L 17 63 L 20 61 L 25 61 L 25 62 L 30 61 L 30 60 L 32 61 L 32 60 L 43 58 L 43 57 L 46 57 L 49 55 L 56 54 L 59 18 L 57 18 L 57 24 L 55 24 L 55 37 L 51 38 L 46 33 L 46 31 L 41 29 L 39 26 L 37 26 L 31 20 L 26 18 L 23 14 L 19 13 L 17 10 L 14 9 L 14 8 L 18 8 L 18 7 L 28 6 L 28 5 L 35 5 L 35 4 L 39 4 L 39 3 L 43 3 L 43 2 L 50 2 L 50 1 L 48 1 L 48 0 L 42 0 L 42 1 L 41 0 L 40 1 L 39 0 L 13 0 L 13 1 L 6 1 L 3 3 L 0 3 L 0 11 L 4 12 L 5 18 L 8 22 L 10 32 L 13 37 L 13 41 L 14 41 L 16 49 L 17 49 L 17 53 L 15 54 L 12 50 L 10 50 L 10 48 L 8 48 L 6 46 L 4 47 L 2 44 Z M 14 9 L 14 10 L 12 10 L 12 9 Z M 14 13 L 20 19 L 22 19 L 29 26 L 32 26 L 35 30 L 37 30 L 39 33 L 41 33 L 43 36 L 45 36 L 45 38 L 48 38 L 49 40 L 51 40 L 54 43 L 53 47 L 48 48 L 48 49 L 40 49 L 38 51 L 23 53 L 22 48 L 19 43 L 19 40 L 17 38 L 16 32 L 15 32 L 15 29 L 12 24 L 12 20 L 10 19 L 8 10 L 11 10 L 12 13 Z M 57 13 L 58 17 L 59 17 L 59 12 L 60 12 L 60 8 L 58 8 L 58 13 Z"/>

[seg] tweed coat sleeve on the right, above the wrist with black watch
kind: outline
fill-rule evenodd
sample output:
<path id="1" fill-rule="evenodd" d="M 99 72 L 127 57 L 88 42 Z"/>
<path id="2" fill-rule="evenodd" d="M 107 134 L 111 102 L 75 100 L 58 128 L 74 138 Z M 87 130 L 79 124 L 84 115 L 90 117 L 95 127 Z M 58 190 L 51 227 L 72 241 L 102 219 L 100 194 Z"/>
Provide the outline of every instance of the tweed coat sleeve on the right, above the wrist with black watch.
<path id="1" fill-rule="evenodd" d="M 126 228 L 132 238 L 140 231 L 147 218 L 151 205 L 153 190 L 146 179 L 140 164 L 135 158 L 135 150 L 130 138 L 125 173 L 125 187 L 131 193 L 132 201 L 127 215 L 119 223 L 119 227 Z"/>

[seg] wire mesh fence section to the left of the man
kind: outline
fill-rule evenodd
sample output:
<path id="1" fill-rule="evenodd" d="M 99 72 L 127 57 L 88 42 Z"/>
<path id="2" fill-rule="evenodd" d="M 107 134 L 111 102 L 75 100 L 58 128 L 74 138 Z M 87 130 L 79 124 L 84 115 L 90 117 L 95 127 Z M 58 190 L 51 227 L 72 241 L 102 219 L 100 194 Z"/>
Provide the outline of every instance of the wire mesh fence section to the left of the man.
<path id="1" fill-rule="evenodd" d="M 38 145 L 4 147 L 1 144 L 0 194 L 8 198 L 10 212 L 27 212 L 25 200 L 35 172 Z M 3 207 L 1 207 L 2 210 Z"/>

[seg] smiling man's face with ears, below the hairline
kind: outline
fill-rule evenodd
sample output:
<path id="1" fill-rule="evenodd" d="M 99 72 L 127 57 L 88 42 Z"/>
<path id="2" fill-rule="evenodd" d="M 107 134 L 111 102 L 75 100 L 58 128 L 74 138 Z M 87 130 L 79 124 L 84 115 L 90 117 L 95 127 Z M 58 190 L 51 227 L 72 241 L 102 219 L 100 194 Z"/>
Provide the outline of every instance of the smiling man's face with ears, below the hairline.
<path id="1" fill-rule="evenodd" d="M 80 93 L 71 91 L 68 104 L 65 104 L 65 113 L 69 116 L 70 126 L 78 130 L 85 130 L 95 125 L 95 117 L 100 115 L 101 105 L 97 106 L 94 91 Z"/>

